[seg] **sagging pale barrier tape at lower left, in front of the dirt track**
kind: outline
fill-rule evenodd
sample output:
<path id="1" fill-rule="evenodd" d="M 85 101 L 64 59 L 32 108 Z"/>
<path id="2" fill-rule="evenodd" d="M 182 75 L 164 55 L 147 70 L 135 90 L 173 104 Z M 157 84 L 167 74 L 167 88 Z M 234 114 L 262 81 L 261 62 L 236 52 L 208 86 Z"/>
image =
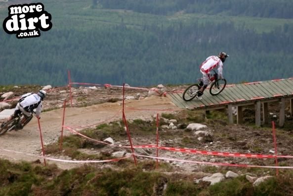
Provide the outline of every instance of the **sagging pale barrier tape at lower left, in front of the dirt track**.
<path id="1" fill-rule="evenodd" d="M 122 159 L 132 157 L 132 155 L 131 155 L 131 156 L 126 156 L 126 157 L 122 157 L 122 158 L 114 158 L 114 159 L 108 159 L 108 160 L 65 160 L 65 159 L 58 159 L 58 158 L 50 158 L 50 157 L 47 157 L 47 156 L 39 156 L 39 155 L 35 155 L 35 154 L 28 154 L 28 153 L 24 153 L 24 152 L 18 152 L 18 151 L 2 149 L 2 148 L 0 148 L 0 150 L 4 150 L 4 151 L 8 151 L 8 152 L 14 152 L 14 153 L 18 153 L 18 154 L 25 154 L 25 155 L 29 155 L 29 156 L 35 156 L 35 157 L 38 157 L 38 158 L 44 158 L 46 160 L 67 162 L 67 163 L 104 163 L 104 162 L 119 161 L 119 160 L 122 160 Z"/>

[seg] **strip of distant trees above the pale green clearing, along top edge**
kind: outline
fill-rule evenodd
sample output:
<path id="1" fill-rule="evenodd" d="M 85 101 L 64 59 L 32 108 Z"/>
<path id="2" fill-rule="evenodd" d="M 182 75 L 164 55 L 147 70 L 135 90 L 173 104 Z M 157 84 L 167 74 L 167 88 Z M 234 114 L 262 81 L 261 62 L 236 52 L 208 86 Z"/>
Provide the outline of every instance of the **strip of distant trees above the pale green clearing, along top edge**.
<path id="1" fill-rule="evenodd" d="M 268 18 L 293 18 L 292 0 L 99 0 L 105 8 L 159 15 L 178 11 Z"/>

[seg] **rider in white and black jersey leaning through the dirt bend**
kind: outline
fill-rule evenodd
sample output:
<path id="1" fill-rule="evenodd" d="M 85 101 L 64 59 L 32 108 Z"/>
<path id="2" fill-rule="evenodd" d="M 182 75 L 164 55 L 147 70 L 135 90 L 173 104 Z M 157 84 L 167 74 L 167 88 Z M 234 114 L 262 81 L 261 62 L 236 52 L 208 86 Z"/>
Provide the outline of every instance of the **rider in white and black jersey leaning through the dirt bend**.
<path id="1" fill-rule="evenodd" d="M 6 122 L 17 117 L 17 115 L 22 112 L 25 117 L 21 122 L 23 124 L 25 120 L 32 115 L 34 109 L 36 109 L 36 116 L 39 118 L 42 111 L 42 100 L 46 95 L 47 93 L 41 90 L 37 94 L 27 93 L 21 96 L 15 107 L 14 113 L 6 119 Z M 4 123 L 1 124 L 1 127 L 4 126 Z"/>

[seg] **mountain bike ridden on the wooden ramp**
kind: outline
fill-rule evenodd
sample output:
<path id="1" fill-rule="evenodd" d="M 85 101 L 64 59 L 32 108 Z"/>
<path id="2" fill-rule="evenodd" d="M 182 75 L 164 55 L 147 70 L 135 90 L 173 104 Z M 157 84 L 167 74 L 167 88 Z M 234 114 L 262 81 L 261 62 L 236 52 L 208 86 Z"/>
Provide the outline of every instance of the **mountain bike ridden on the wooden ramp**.
<path id="1" fill-rule="evenodd" d="M 226 87 L 227 81 L 226 79 L 218 79 L 218 74 L 212 70 L 214 73 L 209 74 L 209 84 L 207 89 L 209 89 L 209 93 L 212 96 L 219 95 Z M 189 86 L 187 89 L 185 89 L 182 98 L 185 101 L 190 101 L 197 97 L 199 90 L 202 88 L 204 85 L 203 83 L 203 78 L 198 80 L 200 83 L 199 84 L 193 84 Z"/>

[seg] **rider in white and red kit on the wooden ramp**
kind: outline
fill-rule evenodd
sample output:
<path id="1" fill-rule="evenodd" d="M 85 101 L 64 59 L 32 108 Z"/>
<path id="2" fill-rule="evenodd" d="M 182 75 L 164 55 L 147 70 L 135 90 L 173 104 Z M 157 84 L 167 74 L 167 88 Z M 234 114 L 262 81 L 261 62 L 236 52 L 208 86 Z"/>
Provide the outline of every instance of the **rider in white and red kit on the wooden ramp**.
<path id="1" fill-rule="evenodd" d="M 209 56 L 202 64 L 200 65 L 200 70 L 203 74 L 203 82 L 201 82 L 200 86 L 201 89 L 198 92 L 197 98 L 200 98 L 203 94 L 205 89 L 208 87 L 209 84 L 209 72 L 216 68 L 218 69 L 218 79 L 223 78 L 223 62 L 225 62 L 226 58 L 229 55 L 225 52 L 220 52 L 217 56 Z"/>

